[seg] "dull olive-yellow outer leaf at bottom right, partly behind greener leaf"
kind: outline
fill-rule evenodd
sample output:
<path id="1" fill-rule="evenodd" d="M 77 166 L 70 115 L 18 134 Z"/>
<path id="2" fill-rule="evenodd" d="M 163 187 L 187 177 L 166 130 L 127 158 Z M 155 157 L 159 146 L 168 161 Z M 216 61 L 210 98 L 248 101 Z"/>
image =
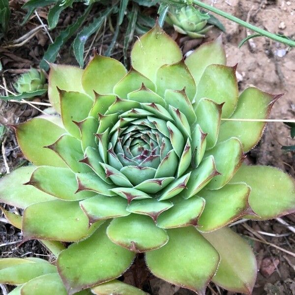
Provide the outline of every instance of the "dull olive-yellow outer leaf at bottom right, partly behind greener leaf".
<path id="1" fill-rule="evenodd" d="M 220 255 L 220 264 L 212 281 L 231 292 L 250 295 L 257 273 L 256 258 L 251 247 L 227 227 L 202 235 Z"/>

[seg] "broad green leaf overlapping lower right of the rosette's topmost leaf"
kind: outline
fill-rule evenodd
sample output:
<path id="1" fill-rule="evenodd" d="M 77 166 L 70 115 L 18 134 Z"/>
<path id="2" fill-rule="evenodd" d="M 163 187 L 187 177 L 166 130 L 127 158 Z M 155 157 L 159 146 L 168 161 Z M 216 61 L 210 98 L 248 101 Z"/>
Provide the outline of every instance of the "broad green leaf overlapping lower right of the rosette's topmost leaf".
<path id="1" fill-rule="evenodd" d="M 157 71 L 157 93 L 164 96 L 166 89 L 185 89 L 186 95 L 192 101 L 196 94 L 196 84 L 183 60 L 175 64 L 164 64 Z"/>

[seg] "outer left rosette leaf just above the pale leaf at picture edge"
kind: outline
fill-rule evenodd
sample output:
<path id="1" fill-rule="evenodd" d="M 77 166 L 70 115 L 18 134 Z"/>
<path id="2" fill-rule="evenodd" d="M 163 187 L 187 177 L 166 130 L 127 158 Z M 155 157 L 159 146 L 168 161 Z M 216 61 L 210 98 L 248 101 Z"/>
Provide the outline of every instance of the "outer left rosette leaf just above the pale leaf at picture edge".
<path id="1" fill-rule="evenodd" d="M 44 148 L 64 133 L 64 129 L 50 119 L 50 116 L 41 116 L 15 126 L 16 138 L 25 157 L 34 165 L 66 167 L 54 151 Z"/>

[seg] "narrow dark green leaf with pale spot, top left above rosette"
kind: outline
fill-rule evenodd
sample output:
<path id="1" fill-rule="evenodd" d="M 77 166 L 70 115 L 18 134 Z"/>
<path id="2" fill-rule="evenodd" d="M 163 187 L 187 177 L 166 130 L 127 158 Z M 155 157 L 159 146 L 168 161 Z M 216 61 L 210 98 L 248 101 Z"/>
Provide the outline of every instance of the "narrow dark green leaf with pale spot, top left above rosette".
<path id="1" fill-rule="evenodd" d="M 84 66 L 84 47 L 86 41 L 93 33 L 101 29 L 106 18 L 112 13 L 113 9 L 114 7 L 111 6 L 104 10 L 103 13 L 99 15 L 99 17 L 94 18 L 92 23 L 90 23 L 88 26 L 85 26 L 77 34 L 72 46 L 75 58 L 77 59 L 81 68 Z"/>

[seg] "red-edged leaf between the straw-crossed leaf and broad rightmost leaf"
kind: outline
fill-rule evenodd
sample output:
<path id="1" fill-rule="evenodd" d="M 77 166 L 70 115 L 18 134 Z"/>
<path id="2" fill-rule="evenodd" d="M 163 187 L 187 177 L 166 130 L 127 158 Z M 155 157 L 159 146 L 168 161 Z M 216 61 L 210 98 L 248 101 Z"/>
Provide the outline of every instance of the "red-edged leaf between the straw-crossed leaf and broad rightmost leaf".
<path id="1" fill-rule="evenodd" d="M 228 183 L 245 158 L 242 145 L 235 137 L 208 150 L 204 156 L 208 155 L 213 155 L 216 169 L 220 173 L 213 177 L 206 187 L 208 189 L 219 189 Z"/>

